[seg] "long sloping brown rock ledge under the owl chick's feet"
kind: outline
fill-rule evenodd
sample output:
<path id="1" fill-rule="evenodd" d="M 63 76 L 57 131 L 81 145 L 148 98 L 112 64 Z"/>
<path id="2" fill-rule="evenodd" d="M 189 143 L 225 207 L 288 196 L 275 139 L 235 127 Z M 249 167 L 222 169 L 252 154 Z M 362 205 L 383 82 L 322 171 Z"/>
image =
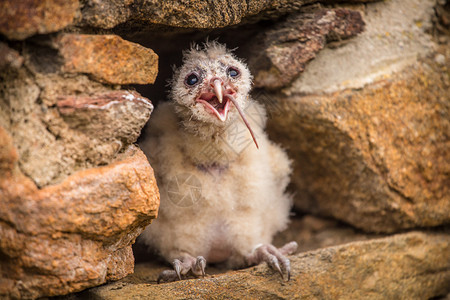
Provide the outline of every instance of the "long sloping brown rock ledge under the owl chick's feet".
<path id="1" fill-rule="evenodd" d="M 430 299 L 448 293 L 449 262 L 448 234 L 411 232 L 291 256 L 289 282 L 262 264 L 159 285 L 124 280 L 75 299 Z"/>

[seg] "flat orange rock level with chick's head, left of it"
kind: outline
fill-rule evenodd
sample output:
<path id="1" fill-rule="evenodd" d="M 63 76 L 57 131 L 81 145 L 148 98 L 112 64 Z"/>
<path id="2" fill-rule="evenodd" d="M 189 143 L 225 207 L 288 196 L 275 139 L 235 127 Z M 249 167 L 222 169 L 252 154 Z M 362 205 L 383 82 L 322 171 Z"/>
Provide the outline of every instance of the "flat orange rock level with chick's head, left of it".
<path id="1" fill-rule="evenodd" d="M 116 35 L 62 34 L 55 44 L 64 72 L 86 73 L 110 84 L 151 84 L 158 73 L 153 50 Z"/>

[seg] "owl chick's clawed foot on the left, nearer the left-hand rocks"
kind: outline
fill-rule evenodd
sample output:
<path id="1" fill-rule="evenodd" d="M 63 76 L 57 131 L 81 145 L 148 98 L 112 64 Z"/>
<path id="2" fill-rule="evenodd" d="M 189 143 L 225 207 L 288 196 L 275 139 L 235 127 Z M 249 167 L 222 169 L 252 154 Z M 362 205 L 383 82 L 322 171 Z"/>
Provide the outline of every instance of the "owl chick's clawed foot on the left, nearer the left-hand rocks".
<path id="1" fill-rule="evenodd" d="M 185 256 L 181 259 L 175 259 L 172 263 L 173 270 L 162 271 L 157 282 L 171 282 L 176 280 L 182 280 L 186 278 L 188 273 L 192 273 L 196 277 L 205 277 L 206 259 L 203 256 Z"/>

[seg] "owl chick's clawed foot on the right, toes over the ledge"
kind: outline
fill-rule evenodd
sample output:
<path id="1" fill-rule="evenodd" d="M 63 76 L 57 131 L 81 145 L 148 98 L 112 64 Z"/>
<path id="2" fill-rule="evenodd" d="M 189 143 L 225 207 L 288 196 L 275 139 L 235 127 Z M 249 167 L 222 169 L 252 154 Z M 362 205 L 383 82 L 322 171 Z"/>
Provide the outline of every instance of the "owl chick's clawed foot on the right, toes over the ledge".
<path id="1" fill-rule="evenodd" d="M 284 279 L 284 274 L 287 275 L 287 281 L 291 278 L 291 262 L 286 255 L 290 255 L 297 250 L 297 243 L 290 242 L 281 248 L 276 248 L 271 244 L 258 246 L 247 256 L 247 262 L 250 265 L 257 265 L 266 262 L 270 267 L 280 273 L 281 278 Z"/>

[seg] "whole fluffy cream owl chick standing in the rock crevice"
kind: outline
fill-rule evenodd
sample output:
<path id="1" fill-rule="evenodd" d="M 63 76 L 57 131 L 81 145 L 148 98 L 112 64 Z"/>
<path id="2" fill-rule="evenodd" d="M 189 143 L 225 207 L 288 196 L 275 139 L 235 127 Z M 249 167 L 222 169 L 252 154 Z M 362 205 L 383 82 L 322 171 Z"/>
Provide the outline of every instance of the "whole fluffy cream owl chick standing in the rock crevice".
<path id="1" fill-rule="evenodd" d="M 157 174 L 161 205 L 140 241 L 173 264 L 158 282 L 204 276 L 206 262 L 267 262 L 289 280 L 286 255 L 297 243 L 270 243 L 288 223 L 290 161 L 264 132 L 266 114 L 250 98 L 251 80 L 225 46 L 192 47 L 175 71 L 172 101 L 152 116 L 141 147 Z"/>

